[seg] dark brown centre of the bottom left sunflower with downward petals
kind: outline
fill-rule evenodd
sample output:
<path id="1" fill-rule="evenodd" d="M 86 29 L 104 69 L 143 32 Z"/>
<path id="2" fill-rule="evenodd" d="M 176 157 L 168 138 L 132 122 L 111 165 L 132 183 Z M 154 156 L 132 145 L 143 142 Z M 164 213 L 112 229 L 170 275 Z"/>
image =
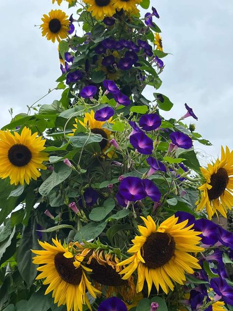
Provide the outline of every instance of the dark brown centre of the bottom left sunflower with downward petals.
<path id="1" fill-rule="evenodd" d="M 63 253 L 58 253 L 54 258 L 55 268 L 60 278 L 66 283 L 79 285 L 82 279 L 82 269 L 76 269 L 73 262 L 73 258 L 65 258 Z"/>

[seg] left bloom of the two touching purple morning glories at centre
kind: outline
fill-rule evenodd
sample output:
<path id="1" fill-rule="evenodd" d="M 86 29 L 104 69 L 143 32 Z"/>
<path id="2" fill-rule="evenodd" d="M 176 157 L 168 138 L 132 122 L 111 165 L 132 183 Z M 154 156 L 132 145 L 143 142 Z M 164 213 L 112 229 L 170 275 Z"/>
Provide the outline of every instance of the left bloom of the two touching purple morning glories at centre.
<path id="1" fill-rule="evenodd" d="M 146 197 L 143 180 L 138 177 L 125 177 L 118 190 L 118 193 L 128 201 L 142 200 Z"/>

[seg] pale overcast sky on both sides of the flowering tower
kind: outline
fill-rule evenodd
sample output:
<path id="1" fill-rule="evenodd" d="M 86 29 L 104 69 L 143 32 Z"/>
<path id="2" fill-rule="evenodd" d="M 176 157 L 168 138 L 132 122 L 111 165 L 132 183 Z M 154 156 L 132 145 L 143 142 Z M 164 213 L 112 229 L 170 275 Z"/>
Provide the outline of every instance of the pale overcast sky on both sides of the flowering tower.
<path id="1" fill-rule="evenodd" d="M 153 3 L 152 3 L 153 2 Z M 197 131 L 213 144 L 196 147 L 218 156 L 221 144 L 233 149 L 233 2 L 232 0 L 153 0 L 160 14 L 164 51 L 172 53 L 161 75 L 161 93 L 174 102 L 166 117 L 179 118 L 184 103 L 199 117 Z M 60 6 L 69 15 L 67 2 Z M 47 41 L 34 25 L 51 9 L 52 0 L 0 1 L 0 126 L 26 105 L 56 87 L 60 75 L 57 44 Z M 153 91 L 153 90 L 152 90 Z M 146 92 L 150 98 L 151 90 Z M 40 103 L 59 99 L 58 91 Z M 187 123 L 195 121 L 186 119 Z"/>

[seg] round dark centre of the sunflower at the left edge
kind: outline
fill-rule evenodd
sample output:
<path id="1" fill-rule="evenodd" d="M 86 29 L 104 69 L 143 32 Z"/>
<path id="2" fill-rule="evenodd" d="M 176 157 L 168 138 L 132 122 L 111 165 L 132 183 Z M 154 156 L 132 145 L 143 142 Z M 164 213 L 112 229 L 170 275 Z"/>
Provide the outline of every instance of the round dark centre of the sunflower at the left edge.
<path id="1" fill-rule="evenodd" d="M 15 166 L 25 166 L 30 162 L 31 152 L 25 145 L 16 144 L 8 150 L 8 159 Z"/>

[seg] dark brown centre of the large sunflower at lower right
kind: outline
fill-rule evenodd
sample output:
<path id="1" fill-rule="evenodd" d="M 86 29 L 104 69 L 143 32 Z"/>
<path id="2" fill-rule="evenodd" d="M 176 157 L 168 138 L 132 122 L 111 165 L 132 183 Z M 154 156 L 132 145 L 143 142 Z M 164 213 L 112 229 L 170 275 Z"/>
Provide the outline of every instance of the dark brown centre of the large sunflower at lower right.
<path id="1" fill-rule="evenodd" d="M 174 256 L 175 241 L 168 233 L 154 232 L 143 246 L 142 256 L 148 268 L 156 269 L 165 265 Z"/>

